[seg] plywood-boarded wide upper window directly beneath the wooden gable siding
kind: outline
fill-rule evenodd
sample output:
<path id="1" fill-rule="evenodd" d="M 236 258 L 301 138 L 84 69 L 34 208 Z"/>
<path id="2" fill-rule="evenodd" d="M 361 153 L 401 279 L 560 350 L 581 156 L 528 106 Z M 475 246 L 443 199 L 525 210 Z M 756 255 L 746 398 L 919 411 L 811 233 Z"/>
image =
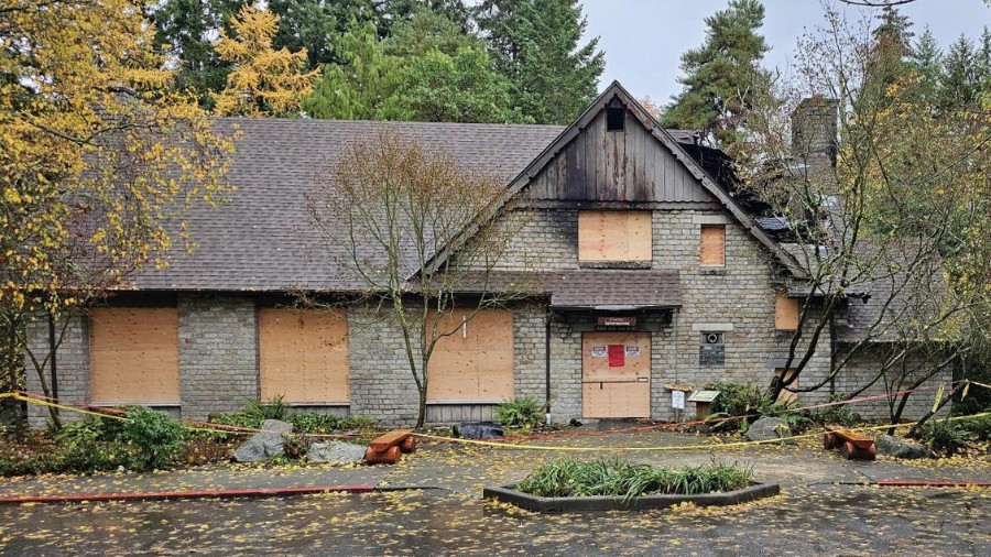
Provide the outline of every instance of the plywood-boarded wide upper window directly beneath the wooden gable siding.
<path id="1" fill-rule="evenodd" d="M 578 211 L 578 261 L 651 261 L 651 211 Z"/>

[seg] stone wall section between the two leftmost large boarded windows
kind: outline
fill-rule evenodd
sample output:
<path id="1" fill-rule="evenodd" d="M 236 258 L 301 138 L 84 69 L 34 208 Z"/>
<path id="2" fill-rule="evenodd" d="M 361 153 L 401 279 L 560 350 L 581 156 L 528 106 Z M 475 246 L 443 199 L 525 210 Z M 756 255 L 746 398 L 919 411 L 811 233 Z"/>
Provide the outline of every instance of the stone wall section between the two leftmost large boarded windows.
<path id="1" fill-rule="evenodd" d="M 178 298 L 179 387 L 184 418 L 205 419 L 258 400 L 258 312 L 251 298 Z"/>

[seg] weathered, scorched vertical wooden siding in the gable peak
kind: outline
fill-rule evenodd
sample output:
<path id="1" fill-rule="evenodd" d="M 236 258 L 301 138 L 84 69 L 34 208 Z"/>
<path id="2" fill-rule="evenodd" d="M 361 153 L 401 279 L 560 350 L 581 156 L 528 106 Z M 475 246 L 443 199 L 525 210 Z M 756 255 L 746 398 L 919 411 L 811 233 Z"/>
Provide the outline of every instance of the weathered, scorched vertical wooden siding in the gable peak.
<path id="1" fill-rule="evenodd" d="M 606 111 L 599 112 L 533 178 L 530 196 L 574 201 L 714 201 L 629 110 L 622 131 L 606 131 Z"/>

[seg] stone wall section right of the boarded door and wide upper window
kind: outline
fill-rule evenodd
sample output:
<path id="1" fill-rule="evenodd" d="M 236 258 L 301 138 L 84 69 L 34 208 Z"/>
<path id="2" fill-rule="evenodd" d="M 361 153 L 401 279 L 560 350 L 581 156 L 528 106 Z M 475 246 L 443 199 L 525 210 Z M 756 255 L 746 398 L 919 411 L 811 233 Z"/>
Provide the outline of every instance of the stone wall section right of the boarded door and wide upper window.
<path id="1" fill-rule="evenodd" d="M 699 264 L 701 225 L 726 226 L 726 265 L 709 269 Z M 775 331 L 774 302 L 783 288 L 771 255 L 736 220 L 709 211 L 654 211 L 654 261 L 657 270 L 678 270 L 682 308 L 669 337 L 655 335 L 653 342 L 652 414 L 674 419 L 671 392 L 664 383 L 694 387 L 726 381 L 765 387 L 776 363 L 787 356 L 791 334 Z M 726 363 L 699 363 L 699 345 L 705 331 L 722 331 Z M 829 337 L 824 336 L 802 378 L 814 381 L 829 369 Z M 826 393 L 801 395 L 803 404 L 825 400 Z M 691 406 L 687 404 L 686 406 Z M 693 407 L 686 411 L 694 413 Z"/>

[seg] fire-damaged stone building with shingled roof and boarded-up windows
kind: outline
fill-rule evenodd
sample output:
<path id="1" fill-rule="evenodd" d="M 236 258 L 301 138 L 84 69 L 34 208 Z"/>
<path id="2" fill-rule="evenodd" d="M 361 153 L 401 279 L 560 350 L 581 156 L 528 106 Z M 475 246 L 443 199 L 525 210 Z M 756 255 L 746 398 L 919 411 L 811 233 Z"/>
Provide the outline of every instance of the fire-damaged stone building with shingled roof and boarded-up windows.
<path id="1" fill-rule="evenodd" d="M 242 136 L 230 201 L 187 217 L 194 253 L 171 255 L 168 269 L 143 272 L 133 288 L 72 318 L 56 352 L 61 400 L 203 419 L 284 395 L 307 409 L 411 425 L 417 394 L 399 332 L 368 326 L 361 306 L 295 309 L 290 294 L 361 287 L 319 245 L 304 196 L 349 142 L 383 124 L 218 120 L 235 124 Z M 802 303 L 791 287 L 795 260 L 730 195 L 720 154 L 689 132 L 662 129 L 619 84 L 568 127 L 388 125 L 508 176 L 534 217 L 514 242 L 520 256 L 511 253 L 501 270 L 537 261 L 546 277 L 540 295 L 486 310 L 438 346 L 428 422 L 490 419 L 494 404 L 513 396 L 547 401 L 557 423 L 674 419 L 673 391 L 715 381 L 765 386 L 787 373 Z M 850 312 L 858 307 L 868 305 Z M 829 373 L 840 337 L 856 338 L 851 323 L 826 331 L 799 384 Z M 47 324 L 32 328 L 44 346 Z M 851 362 L 835 390 L 870 375 L 870 359 Z M 824 387 L 798 396 L 814 404 L 828 395 Z M 919 396 L 905 415 L 930 404 Z M 882 403 L 854 409 L 886 416 Z M 44 423 L 43 409 L 31 413 Z"/>

